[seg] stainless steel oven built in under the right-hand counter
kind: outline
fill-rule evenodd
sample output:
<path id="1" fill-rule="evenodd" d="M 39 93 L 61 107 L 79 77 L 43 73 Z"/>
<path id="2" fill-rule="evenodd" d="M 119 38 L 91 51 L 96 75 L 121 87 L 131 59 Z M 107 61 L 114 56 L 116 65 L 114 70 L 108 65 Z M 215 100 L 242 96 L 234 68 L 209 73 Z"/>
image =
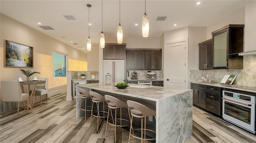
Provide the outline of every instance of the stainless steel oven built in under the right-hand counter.
<path id="1" fill-rule="evenodd" d="M 222 117 L 252 133 L 255 133 L 256 96 L 237 93 L 232 90 L 222 91 Z"/>

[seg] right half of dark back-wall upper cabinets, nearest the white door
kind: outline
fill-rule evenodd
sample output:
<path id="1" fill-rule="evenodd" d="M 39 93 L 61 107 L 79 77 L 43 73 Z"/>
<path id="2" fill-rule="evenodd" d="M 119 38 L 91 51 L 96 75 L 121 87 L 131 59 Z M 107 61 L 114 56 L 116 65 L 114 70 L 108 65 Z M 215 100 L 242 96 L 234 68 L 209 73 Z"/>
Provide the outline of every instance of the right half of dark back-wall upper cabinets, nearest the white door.
<path id="1" fill-rule="evenodd" d="M 162 69 L 162 50 L 145 50 L 145 70 Z"/>

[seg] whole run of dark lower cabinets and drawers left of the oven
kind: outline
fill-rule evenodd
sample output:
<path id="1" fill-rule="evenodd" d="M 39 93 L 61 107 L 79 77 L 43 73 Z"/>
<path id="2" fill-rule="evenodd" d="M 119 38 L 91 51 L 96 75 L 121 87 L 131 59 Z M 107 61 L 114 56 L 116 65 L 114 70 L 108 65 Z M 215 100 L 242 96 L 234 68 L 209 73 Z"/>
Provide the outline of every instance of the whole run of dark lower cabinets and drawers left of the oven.
<path id="1" fill-rule="evenodd" d="M 216 86 L 191 83 L 193 105 L 221 116 L 221 89 Z"/>

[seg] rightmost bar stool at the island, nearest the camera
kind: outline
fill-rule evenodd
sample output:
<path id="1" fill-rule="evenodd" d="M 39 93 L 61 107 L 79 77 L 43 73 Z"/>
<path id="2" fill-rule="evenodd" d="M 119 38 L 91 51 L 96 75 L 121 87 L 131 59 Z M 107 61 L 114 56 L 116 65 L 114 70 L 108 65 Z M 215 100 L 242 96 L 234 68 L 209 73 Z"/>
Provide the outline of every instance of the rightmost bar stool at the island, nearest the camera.
<path id="1" fill-rule="evenodd" d="M 128 108 L 131 112 L 132 119 L 133 117 L 141 118 L 141 128 L 140 129 L 132 129 L 132 119 L 131 119 L 131 127 L 130 127 L 130 135 L 129 135 L 129 141 L 130 143 L 130 137 L 131 135 L 135 137 L 136 139 L 141 139 L 141 143 L 146 140 L 155 140 L 156 138 L 146 139 L 146 131 L 151 131 L 156 133 L 156 131 L 153 131 L 151 129 L 146 129 L 146 117 L 148 116 L 154 116 L 156 119 L 156 110 L 153 110 L 151 108 L 148 108 L 147 106 L 140 104 L 135 101 L 127 100 Z M 144 128 L 143 128 L 143 118 L 144 118 Z M 136 137 L 134 135 L 134 131 L 141 130 L 141 137 Z M 143 131 L 144 131 L 144 137 L 143 137 Z"/>

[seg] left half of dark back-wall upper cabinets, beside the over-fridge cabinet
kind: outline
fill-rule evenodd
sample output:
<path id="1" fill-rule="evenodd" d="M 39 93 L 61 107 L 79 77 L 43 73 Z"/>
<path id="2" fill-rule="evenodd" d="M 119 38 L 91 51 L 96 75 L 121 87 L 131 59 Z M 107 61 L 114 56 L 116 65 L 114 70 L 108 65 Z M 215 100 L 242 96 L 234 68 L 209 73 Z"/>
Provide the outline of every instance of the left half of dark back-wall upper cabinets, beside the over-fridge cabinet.
<path id="1" fill-rule="evenodd" d="M 144 70 L 144 50 L 126 50 L 126 69 Z"/>

